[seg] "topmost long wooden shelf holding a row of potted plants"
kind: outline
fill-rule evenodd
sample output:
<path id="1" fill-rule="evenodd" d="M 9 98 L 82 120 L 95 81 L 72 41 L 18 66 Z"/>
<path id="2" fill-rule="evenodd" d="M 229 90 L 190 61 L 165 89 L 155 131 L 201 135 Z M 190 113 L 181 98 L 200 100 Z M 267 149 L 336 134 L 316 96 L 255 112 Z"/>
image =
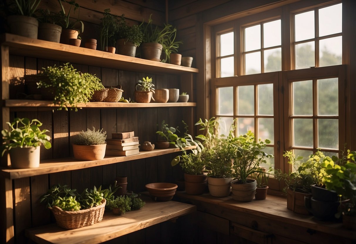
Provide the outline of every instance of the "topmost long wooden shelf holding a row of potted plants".
<path id="1" fill-rule="evenodd" d="M 196 68 L 166 64 L 62 43 L 48 42 L 9 33 L 2 35 L 1 43 L 2 45 L 9 46 L 11 54 L 27 57 L 149 73 L 180 74 L 199 72 Z"/>

